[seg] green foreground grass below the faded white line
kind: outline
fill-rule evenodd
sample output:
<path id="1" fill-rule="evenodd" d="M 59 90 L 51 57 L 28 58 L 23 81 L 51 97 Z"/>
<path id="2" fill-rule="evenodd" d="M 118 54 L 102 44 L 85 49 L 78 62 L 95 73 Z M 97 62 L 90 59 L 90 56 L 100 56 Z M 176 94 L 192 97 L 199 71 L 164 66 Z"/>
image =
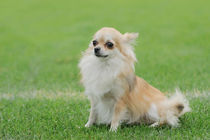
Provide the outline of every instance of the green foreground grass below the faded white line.
<path id="1" fill-rule="evenodd" d="M 206 107 L 207 102 L 207 99 L 202 99 L 202 102 L 200 99 L 193 100 L 191 106 L 196 109 L 181 118 L 180 128 L 122 125 L 118 132 L 114 133 L 109 132 L 109 127 L 105 125 L 93 126 L 90 129 L 84 127 L 89 108 L 87 100 L 2 100 L 0 137 L 5 139 L 209 138 L 210 110 Z"/>

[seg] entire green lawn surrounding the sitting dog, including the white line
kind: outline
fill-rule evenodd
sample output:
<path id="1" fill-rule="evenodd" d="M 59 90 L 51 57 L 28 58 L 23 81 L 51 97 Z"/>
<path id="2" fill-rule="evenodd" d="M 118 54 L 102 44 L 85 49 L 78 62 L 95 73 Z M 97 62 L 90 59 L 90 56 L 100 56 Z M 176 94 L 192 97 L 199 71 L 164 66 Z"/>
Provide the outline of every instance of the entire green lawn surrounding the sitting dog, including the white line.
<path id="1" fill-rule="evenodd" d="M 210 1 L 1 0 L 0 139 L 209 139 Z M 85 128 L 78 62 L 101 27 L 139 32 L 136 74 L 192 112 L 180 127 Z M 100 80 L 100 79 L 99 79 Z"/>

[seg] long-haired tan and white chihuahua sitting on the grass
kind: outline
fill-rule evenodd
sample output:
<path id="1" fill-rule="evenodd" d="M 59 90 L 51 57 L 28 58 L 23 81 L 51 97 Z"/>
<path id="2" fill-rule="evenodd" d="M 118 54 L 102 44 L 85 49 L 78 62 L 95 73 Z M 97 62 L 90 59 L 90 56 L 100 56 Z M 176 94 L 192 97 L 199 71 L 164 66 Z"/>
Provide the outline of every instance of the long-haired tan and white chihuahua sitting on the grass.
<path id="1" fill-rule="evenodd" d="M 168 98 L 135 75 L 133 45 L 137 37 L 138 33 L 121 34 L 104 27 L 95 33 L 84 52 L 79 68 L 91 102 L 86 127 L 111 124 L 110 131 L 116 131 L 122 122 L 174 127 L 178 126 L 178 118 L 190 111 L 179 91 Z"/>

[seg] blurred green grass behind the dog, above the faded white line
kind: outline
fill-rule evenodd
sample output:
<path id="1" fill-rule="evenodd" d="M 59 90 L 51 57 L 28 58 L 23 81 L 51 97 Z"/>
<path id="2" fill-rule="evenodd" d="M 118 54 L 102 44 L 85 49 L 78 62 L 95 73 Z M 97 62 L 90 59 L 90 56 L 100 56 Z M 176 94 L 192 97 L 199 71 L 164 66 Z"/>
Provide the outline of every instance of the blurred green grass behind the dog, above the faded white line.
<path id="1" fill-rule="evenodd" d="M 1 0 L 0 93 L 83 91 L 77 67 L 104 26 L 139 32 L 136 74 L 161 89 L 209 90 L 207 0 Z"/>

